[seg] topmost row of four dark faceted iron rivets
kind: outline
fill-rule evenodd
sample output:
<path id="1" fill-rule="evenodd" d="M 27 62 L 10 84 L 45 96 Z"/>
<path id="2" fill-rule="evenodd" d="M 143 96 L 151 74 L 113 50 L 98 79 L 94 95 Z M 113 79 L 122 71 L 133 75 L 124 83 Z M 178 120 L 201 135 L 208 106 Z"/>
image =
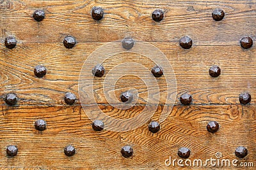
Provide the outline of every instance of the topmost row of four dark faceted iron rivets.
<path id="1" fill-rule="evenodd" d="M 92 18 L 94 20 L 101 20 L 103 18 L 104 11 L 99 6 L 94 6 L 92 8 L 92 14 L 91 15 L 92 15 Z M 215 9 L 215 10 L 212 11 L 212 18 L 216 21 L 222 20 L 224 18 L 224 16 L 225 16 L 225 13 L 224 13 L 223 10 Z M 44 10 L 34 11 L 33 18 L 38 22 L 44 20 L 44 18 L 45 18 Z M 152 19 L 154 21 L 160 22 L 161 20 L 163 20 L 163 18 L 164 18 L 164 11 L 163 10 L 157 9 L 157 10 L 154 10 L 152 12 Z"/>

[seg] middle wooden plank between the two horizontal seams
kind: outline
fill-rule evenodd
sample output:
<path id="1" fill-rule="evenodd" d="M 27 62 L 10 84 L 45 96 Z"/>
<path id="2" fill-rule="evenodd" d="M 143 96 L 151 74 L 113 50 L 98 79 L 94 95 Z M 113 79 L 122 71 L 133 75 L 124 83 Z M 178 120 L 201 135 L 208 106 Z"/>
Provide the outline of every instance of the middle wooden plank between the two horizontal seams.
<path id="1" fill-rule="evenodd" d="M 68 91 L 74 92 L 79 99 L 78 81 L 83 63 L 90 53 L 101 45 L 106 43 L 79 43 L 69 50 L 61 43 L 22 43 L 12 50 L 1 46 L 2 99 L 7 93 L 15 92 L 19 97 L 18 104 L 65 104 L 63 97 Z M 193 96 L 193 104 L 239 104 L 239 94 L 246 91 L 252 94 L 251 103 L 255 104 L 256 63 L 253 57 L 256 48 L 243 50 L 239 45 L 198 45 L 190 50 L 184 50 L 177 43 L 171 42 L 152 43 L 152 45 L 166 55 L 173 68 L 177 80 L 176 104 L 179 104 L 179 96 L 185 92 Z M 114 66 L 127 61 L 142 64 L 148 69 L 155 66 L 154 62 L 159 62 L 134 53 L 122 53 L 103 62 L 106 74 Z M 47 67 L 44 78 L 36 78 L 33 73 L 34 67 L 38 64 Z M 209 67 L 212 65 L 221 67 L 220 77 L 209 76 Z M 140 73 L 142 70 L 143 68 L 139 68 L 134 70 L 134 73 Z M 148 77 L 150 76 L 152 75 L 148 72 Z M 93 81 L 97 103 L 108 103 L 102 89 L 104 78 L 105 76 L 95 78 Z M 157 81 L 161 92 L 159 103 L 164 104 L 166 81 L 164 77 L 157 78 Z M 136 76 L 127 75 L 116 82 L 116 97 L 119 98 L 122 92 L 131 87 L 138 89 L 138 104 L 145 104 L 147 87 Z M 106 94 L 109 95 L 108 92 Z M 3 103 L 4 101 L 1 100 L 1 104 Z M 79 104 L 78 100 L 77 104 Z"/>

